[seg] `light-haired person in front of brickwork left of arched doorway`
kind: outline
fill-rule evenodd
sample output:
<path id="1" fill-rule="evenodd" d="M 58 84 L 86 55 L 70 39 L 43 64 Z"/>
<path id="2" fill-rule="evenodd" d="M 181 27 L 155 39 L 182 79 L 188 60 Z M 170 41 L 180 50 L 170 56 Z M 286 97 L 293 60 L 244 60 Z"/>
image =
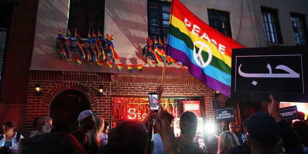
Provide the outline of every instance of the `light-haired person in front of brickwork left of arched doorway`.
<path id="1" fill-rule="evenodd" d="M 52 128 L 52 119 L 51 117 L 41 117 L 36 121 L 36 130 L 30 134 L 30 137 L 50 133 Z"/>

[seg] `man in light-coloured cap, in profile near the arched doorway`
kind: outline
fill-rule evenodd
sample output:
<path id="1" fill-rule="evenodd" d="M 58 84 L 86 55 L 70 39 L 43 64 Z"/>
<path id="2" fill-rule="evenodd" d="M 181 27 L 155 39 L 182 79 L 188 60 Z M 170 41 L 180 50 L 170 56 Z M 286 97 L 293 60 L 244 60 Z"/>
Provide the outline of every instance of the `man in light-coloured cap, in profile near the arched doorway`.
<path id="1" fill-rule="evenodd" d="M 98 115 L 98 112 L 93 113 L 90 110 L 82 111 L 78 116 L 79 128 L 72 134 L 76 137 L 80 145 L 91 154 L 91 145 L 88 142 L 86 132 L 94 128 L 94 116 Z"/>

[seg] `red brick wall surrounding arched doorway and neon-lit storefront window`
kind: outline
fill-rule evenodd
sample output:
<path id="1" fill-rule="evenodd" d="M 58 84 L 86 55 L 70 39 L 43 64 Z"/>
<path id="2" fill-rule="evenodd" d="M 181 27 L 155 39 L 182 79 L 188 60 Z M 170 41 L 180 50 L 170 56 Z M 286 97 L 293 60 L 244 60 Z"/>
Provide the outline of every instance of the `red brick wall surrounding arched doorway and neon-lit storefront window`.
<path id="1" fill-rule="evenodd" d="M 39 97 L 35 95 L 34 87 L 36 83 L 39 83 L 42 89 L 42 95 Z M 156 91 L 156 86 L 160 83 L 161 76 L 30 71 L 27 89 L 25 135 L 28 135 L 32 130 L 31 125 L 35 117 L 49 116 L 52 99 L 64 90 L 74 89 L 83 93 L 90 102 L 91 110 L 99 111 L 99 116 L 110 121 L 111 97 L 144 97 L 149 92 Z M 103 97 L 96 97 L 99 85 L 107 88 Z M 223 95 L 220 95 L 219 98 L 214 98 L 214 91 L 195 77 L 166 76 L 163 87 L 165 88 L 163 97 L 205 97 L 206 120 L 213 123 L 214 109 L 212 109 L 211 101 L 219 99 L 222 106 L 224 106 L 226 100 Z M 217 127 L 220 127 L 219 124 Z"/>

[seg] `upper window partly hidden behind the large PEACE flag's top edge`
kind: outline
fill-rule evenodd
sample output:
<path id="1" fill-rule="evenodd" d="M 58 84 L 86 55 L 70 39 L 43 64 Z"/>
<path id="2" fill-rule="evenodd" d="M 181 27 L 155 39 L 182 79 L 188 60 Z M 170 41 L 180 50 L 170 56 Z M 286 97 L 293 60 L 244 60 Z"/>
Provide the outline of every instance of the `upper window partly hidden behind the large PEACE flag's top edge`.
<path id="1" fill-rule="evenodd" d="M 209 26 L 232 38 L 229 13 L 207 9 Z"/>

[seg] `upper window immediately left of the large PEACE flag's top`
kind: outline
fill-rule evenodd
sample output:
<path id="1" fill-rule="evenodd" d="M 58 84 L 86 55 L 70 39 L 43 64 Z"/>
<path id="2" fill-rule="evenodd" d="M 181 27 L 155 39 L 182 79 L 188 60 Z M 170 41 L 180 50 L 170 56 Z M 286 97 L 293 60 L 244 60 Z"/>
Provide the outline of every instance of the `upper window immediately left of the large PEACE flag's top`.
<path id="1" fill-rule="evenodd" d="M 154 41 L 167 39 L 171 3 L 160 0 L 148 0 L 148 33 Z"/>

